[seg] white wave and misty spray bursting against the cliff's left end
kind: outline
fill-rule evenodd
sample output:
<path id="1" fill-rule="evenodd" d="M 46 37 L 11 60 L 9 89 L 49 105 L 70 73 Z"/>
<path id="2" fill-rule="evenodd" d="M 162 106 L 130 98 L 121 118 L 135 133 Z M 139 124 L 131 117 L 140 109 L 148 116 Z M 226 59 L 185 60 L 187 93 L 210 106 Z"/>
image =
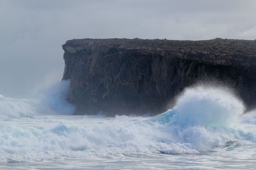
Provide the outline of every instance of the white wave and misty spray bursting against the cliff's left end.
<path id="1" fill-rule="evenodd" d="M 13 99 L 0 95 L 0 118 L 32 117 L 35 115 L 72 115 L 74 106 L 65 100 L 69 81 L 61 81 L 40 92 L 38 99 Z"/>

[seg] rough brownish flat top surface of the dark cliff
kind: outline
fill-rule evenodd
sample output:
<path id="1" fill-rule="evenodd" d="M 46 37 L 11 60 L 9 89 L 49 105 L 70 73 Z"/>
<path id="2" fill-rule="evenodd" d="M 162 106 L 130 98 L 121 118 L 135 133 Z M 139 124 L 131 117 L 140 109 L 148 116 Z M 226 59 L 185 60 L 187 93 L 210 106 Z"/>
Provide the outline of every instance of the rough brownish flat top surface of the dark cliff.
<path id="1" fill-rule="evenodd" d="M 167 39 L 72 39 L 63 49 L 68 53 L 83 50 L 116 48 L 118 51 L 136 50 L 154 55 L 162 53 L 180 59 L 197 60 L 225 66 L 256 66 L 256 41 L 215 38 L 202 41 Z"/>

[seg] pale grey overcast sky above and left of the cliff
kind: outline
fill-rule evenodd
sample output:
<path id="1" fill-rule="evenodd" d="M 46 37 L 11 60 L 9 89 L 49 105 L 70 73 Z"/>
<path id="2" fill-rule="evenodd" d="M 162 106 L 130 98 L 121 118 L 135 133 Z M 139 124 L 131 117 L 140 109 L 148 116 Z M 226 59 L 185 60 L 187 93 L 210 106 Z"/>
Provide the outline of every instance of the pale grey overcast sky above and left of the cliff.
<path id="1" fill-rule="evenodd" d="M 255 0 L 0 0 L 0 94 L 61 81 L 68 39 L 256 39 L 255 18 Z"/>

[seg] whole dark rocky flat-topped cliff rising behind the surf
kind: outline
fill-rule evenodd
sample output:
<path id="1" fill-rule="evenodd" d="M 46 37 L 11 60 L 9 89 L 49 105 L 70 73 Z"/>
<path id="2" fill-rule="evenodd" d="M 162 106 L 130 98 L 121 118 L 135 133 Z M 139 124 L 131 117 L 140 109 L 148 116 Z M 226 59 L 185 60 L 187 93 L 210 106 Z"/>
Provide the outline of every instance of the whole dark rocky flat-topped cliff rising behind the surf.
<path id="1" fill-rule="evenodd" d="M 76 114 L 161 113 L 184 88 L 212 80 L 256 106 L 256 41 L 74 39 L 63 49 Z"/>

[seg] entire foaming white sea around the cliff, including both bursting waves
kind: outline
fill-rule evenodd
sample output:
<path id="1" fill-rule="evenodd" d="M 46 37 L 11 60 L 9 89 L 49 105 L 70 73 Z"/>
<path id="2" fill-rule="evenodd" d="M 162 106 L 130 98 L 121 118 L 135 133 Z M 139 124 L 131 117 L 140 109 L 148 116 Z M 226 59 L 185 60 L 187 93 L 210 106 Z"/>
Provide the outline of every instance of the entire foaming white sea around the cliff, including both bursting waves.
<path id="1" fill-rule="evenodd" d="M 256 112 L 198 85 L 155 117 L 75 116 L 68 81 L 41 99 L 0 96 L 0 169 L 255 169 Z"/>

